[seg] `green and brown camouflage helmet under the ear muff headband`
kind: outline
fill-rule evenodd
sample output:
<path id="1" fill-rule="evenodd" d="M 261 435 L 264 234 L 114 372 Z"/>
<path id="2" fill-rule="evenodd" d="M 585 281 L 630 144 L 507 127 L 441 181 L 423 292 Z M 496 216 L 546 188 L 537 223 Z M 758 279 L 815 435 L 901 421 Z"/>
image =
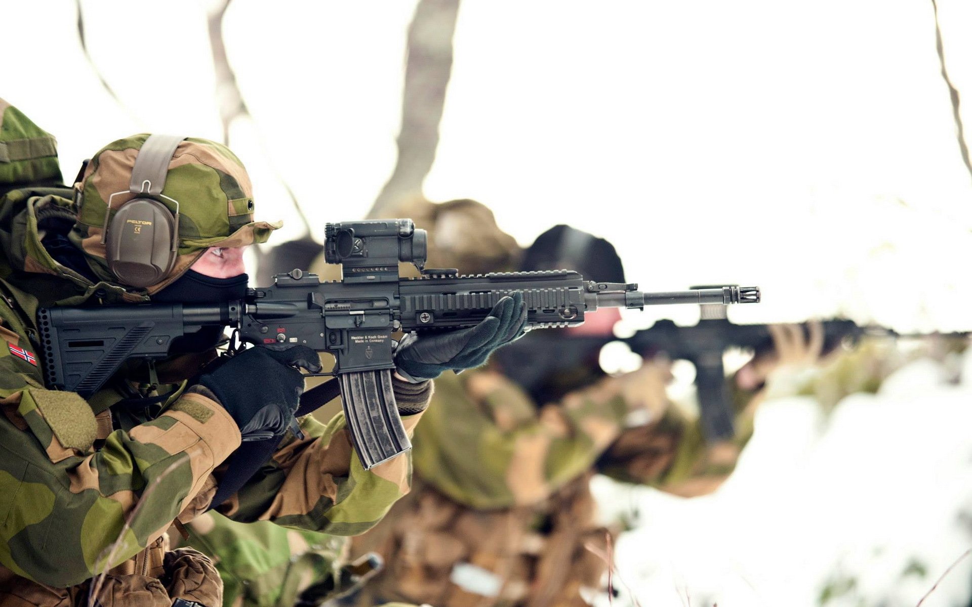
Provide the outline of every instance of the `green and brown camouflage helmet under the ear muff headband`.
<path id="1" fill-rule="evenodd" d="M 117 282 L 108 270 L 102 243 L 108 200 L 124 192 L 112 202 L 114 216 L 122 203 L 136 196 L 128 193 L 128 185 L 148 138 L 149 133 L 141 133 L 108 144 L 91 158 L 82 181 L 75 184 L 78 216 L 71 240 L 106 280 Z M 243 163 L 226 146 L 206 139 L 188 138 L 172 154 L 159 200 L 174 212 L 168 199 L 179 205 L 178 257 L 163 280 L 147 287 L 150 294 L 179 278 L 209 247 L 262 243 L 281 226 L 279 221 L 254 221 L 253 189 Z"/>

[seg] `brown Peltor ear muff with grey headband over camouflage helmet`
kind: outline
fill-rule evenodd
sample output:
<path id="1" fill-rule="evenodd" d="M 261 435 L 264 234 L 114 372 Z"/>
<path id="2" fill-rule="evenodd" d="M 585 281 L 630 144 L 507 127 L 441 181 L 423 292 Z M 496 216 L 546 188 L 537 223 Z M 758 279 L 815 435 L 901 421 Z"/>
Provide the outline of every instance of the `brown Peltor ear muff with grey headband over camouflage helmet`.
<path id="1" fill-rule="evenodd" d="M 176 263 L 179 252 L 179 201 L 162 194 L 169 161 L 179 144 L 178 135 L 150 135 L 135 157 L 127 190 L 108 197 L 104 233 L 108 269 L 123 285 L 150 287 L 161 282 Z M 134 193 L 109 220 L 115 196 Z M 161 199 L 175 205 L 170 211 Z"/>

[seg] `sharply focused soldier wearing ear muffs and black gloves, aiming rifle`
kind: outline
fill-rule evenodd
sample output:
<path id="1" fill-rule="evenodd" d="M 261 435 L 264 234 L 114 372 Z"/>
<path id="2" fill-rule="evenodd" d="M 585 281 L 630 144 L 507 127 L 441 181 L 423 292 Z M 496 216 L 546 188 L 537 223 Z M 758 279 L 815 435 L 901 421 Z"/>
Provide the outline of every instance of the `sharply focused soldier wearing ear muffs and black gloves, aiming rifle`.
<path id="1" fill-rule="evenodd" d="M 242 163 L 212 141 L 121 139 L 93 156 L 73 188 L 59 185 L 52 138 L 3 101 L 0 141 L 0 604 L 216 607 L 223 584 L 209 559 L 167 550 L 173 521 L 215 508 L 241 523 L 347 535 L 408 490 L 409 458 L 365 471 L 342 416 L 301 419 L 302 438 L 289 430 L 304 385 L 297 367 L 320 369 L 306 348 L 216 359 L 221 331 L 203 330 L 156 365 L 124 365 L 87 400 L 45 388 L 38 308 L 238 299 L 244 248 L 280 225 L 253 219 Z M 162 236 L 133 246 L 132 234 L 150 224 Z M 517 298 L 494 313 L 505 321 L 473 332 L 491 331 L 496 344 L 526 319 Z M 396 353 L 409 430 L 433 388 L 403 377 L 464 366 L 456 358 L 469 335 Z M 243 437 L 265 433 L 282 441 L 257 474 L 227 461 Z"/>

